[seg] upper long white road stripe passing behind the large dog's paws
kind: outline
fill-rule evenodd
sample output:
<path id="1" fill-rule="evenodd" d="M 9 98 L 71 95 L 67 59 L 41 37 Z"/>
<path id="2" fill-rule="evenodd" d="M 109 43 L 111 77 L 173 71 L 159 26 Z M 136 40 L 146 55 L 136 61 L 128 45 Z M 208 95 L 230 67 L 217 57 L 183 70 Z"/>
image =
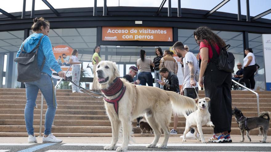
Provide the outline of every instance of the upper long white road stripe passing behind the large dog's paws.
<path id="1" fill-rule="evenodd" d="M 108 146 L 109 143 L 66 143 L 62 146 Z M 147 146 L 149 144 L 131 144 L 129 146 Z M 160 144 L 157 144 L 157 146 Z M 121 146 L 121 144 L 117 144 Z M 168 143 L 168 146 L 237 146 L 237 147 L 271 147 L 271 143 Z"/>

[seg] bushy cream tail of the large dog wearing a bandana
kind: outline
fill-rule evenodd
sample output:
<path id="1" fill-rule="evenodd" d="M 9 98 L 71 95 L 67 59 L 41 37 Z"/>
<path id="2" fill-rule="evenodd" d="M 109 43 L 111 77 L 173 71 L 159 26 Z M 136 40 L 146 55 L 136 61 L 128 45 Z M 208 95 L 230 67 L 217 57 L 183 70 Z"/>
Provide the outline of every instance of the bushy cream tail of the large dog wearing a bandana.
<path id="1" fill-rule="evenodd" d="M 176 92 L 166 91 L 170 97 L 172 103 L 173 113 L 176 115 L 184 115 L 186 118 L 186 112 L 192 112 L 196 110 L 196 102 L 194 99 L 180 95 Z"/>

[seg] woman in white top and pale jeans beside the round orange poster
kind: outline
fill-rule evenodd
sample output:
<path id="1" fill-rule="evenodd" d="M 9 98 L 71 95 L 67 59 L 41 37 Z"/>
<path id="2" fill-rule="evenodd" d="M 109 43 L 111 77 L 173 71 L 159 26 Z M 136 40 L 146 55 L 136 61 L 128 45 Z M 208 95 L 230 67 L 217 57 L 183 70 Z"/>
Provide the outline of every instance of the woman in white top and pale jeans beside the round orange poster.
<path id="1" fill-rule="evenodd" d="M 80 80 L 80 75 L 81 75 L 81 69 L 80 69 L 80 64 L 82 62 L 79 62 L 78 60 L 78 49 L 73 49 L 71 52 L 71 57 L 70 57 L 70 61 L 69 64 L 72 64 L 72 81 L 75 82 L 75 84 L 77 84 L 79 86 L 79 80 Z M 79 92 L 79 93 L 83 93 L 82 91 L 80 91 L 79 87 L 76 87 L 75 84 L 71 84 L 71 88 L 72 88 L 72 93 L 75 92 Z"/>

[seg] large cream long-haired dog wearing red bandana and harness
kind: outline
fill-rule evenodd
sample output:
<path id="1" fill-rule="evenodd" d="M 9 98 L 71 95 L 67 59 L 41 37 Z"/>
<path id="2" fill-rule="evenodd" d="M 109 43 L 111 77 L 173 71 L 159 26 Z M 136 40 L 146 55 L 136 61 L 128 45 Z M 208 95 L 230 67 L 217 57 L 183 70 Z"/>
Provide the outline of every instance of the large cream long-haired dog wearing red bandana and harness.
<path id="1" fill-rule="evenodd" d="M 164 141 L 159 148 L 167 148 L 170 130 L 168 128 L 173 111 L 183 114 L 195 111 L 195 100 L 176 92 L 165 91 L 157 87 L 134 85 L 125 79 L 119 79 L 119 71 L 115 63 L 101 61 L 97 66 L 99 88 L 104 94 L 104 105 L 112 127 L 112 141 L 104 150 L 113 150 L 118 141 L 119 129 L 122 125 L 122 145 L 116 151 L 127 150 L 131 138 L 132 121 L 145 115 L 152 127 L 155 137 L 148 148 L 156 147 L 164 131 Z"/>

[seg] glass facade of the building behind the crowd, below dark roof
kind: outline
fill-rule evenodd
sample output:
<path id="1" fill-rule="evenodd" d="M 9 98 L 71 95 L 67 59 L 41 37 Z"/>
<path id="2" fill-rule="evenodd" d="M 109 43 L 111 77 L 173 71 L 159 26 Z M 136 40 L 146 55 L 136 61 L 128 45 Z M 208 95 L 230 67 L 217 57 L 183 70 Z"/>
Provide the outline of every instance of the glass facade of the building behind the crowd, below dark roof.
<path id="1" fill-rule="evenodd" d="M 178 29 L 178 41 L 188 45 L 190 52 L 197 55 L 199 46 L 193 37 L 194 29 Z M 220 36 L 226 44 L 230 44 L 229 52 L 235 56 L 235 64 L 242 63 L 244 59 L 244 40 L 242 32 L 213 31 Z M 30 30 L 30 35 L 33 32 Z M 176 33 L 175 33 L 176 34 Z M 69 29 L 50 29 L 49 37 L 52 47 L 57 45 L 66 45 L 72 49 L 79 50 L 79 60 L 83 61 L 82 69 L 84 70 L 83 87 L 91 89 L 93 72 L 92 72 L 92 55 L 93 49 L 97 45 L 97 28 L 69 28 Z M 0 88 L 20 88 L 21 84 L 17 79 L 17 66 L 13 62 L 20 45 L 24 39 L 24 31 L 5 31 L 0 32 L 0 72 L 4 75 L 0 77 Z M 249 48 L 253 49 L 257 64 L 260 69 L 255 75 L 256 89 L 265 90 L 265 68 L 263 60 L 262 37 L 261 34 L 249 33 Z M 150 42 L 151 44 L 151 42 Z M 137 59 L 140 58 L 140 49 L 146 51 L 146 57 L 151 60 L 156 57 L 155 48 L 161 47 L 162 51 L 169 49 L 170 46 L 101 46 L 100 57 L 102 60 L 116 62 L 119 68 L 120 76 L 128 73 L 131 65 L 136 66 Z M 235 66 L 234 71 L 237 71 Z M 11 72 L 11 75 L 9 73 Z M 179 64 L 178 72 L 181 72 Z M 152 73 L 153 78 L 154 74 Z M 181 77 L 181 76 L 180 76 Z M 137 79 L 137 76 L 134 80 Z M 182 77 L 179 80 L 182 82 Z M 180 83 L 181 84 L 181 83 Z M 71 84 L 68 84 L 69 86 Z"/>

